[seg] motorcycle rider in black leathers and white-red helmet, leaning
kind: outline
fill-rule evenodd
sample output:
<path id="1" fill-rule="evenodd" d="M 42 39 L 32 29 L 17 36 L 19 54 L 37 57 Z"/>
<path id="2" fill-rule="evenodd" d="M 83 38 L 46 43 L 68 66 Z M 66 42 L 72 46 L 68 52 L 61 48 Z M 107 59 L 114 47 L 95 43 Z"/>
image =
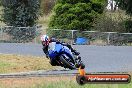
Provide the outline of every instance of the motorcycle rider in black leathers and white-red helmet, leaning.
<path id="1" fill-rule="evenodd" d="M 55 38 L 49 38 L 49 36 L 47 36 L 47 35 L 42 35 L 42 36 L 41 36 L 41 42 L 42 42 L 42 45 L 43 45 L 43 52 L 45 53 L 45 55 L 46 55 L 47 58 L 49 58 L 49 57 L 48 57 L 48 50 L 49 50 L 49 48 L 52 47 L 52 46 L 50 46 L 50 43 L 53 43 L 53 42 L 55 42 L 55 43 L 57 43 L 57 44 L 62 44 L 62 45 L 64 45 L 64 46 L 67 46 L 67 47 L 71 50 L 71 52 L 73 52 L 73 53 L 74 53 L 75 55 L 77 55 L 77 56 L 80 54 L 80 53 L 77 52 L 75 49 L 73 49 L 73 48 L 71 47 L 71 45 L 69 45 L 68 43 L 62 43 L 62 42 L 56 40 Z M 78 56 L 78 58 L 81 59 L 80 56 Z M 50 64 L 51 64 L 52 66 L 59 65 L 59 64 L 58 64 L 54 59 L 52 59 L 52 58 L 50 58 Z"/>

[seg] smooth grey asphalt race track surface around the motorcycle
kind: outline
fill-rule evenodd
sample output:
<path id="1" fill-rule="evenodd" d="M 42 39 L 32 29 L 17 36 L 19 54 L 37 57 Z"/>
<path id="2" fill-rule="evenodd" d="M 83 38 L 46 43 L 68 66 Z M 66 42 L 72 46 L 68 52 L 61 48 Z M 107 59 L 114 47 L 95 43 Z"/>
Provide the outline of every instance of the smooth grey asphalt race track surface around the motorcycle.
<path id="1" fill-rule="evenodd" d="M 86 65 L 86 72 L 130 72 L 132 71 L 131 46 L 74 45 Z M 0 53 L 44 56 L 40 44 L 0 43 Z M 61 68 L 54 71 L 31 72 L 31 74 L 75 74 L 77 70 Z M 28 74 L 28 73 L 25 73 Z"/>

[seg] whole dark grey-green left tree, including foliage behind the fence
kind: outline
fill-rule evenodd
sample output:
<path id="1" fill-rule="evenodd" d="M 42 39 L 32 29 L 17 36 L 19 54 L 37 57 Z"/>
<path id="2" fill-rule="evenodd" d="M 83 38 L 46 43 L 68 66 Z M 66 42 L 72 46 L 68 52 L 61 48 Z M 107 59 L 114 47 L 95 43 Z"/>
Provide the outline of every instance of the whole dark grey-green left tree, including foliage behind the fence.
<path id="1" fill-rule="evenodd" d="M 13 28 L 7 33 L 15 40 L 32 40 L 35 37 L 35 28 L 28 30 L 15 27 L 32 27 L 39 17 L 39 0 L 2 0 L 3 14 L 1 20 Z M 30 36 L 29 34 L 32 33 Z"/>

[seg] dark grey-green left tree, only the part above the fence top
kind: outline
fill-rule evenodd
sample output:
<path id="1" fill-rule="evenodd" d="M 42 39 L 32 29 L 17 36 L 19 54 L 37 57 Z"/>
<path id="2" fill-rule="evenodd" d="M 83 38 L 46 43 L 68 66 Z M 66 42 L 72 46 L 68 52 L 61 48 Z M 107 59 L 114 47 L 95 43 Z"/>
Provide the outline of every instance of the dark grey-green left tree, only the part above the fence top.
<path id="1" fill-rule="evenodd" d="M 39 0 L 2 0 L 2 20 L 9 26 L 27 27 L 36 24 L 39 16 Z"/>

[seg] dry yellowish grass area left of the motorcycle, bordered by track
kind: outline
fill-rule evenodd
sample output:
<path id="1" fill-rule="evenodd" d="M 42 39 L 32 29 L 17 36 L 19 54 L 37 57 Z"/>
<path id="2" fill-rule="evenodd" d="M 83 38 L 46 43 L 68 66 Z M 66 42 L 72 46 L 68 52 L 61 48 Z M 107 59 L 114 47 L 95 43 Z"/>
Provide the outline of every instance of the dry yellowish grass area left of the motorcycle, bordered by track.
<path id="1" fill-rule="evenodd" d="M 45 57 L 0 54 L 0 74 L 52 69 Z"/>

